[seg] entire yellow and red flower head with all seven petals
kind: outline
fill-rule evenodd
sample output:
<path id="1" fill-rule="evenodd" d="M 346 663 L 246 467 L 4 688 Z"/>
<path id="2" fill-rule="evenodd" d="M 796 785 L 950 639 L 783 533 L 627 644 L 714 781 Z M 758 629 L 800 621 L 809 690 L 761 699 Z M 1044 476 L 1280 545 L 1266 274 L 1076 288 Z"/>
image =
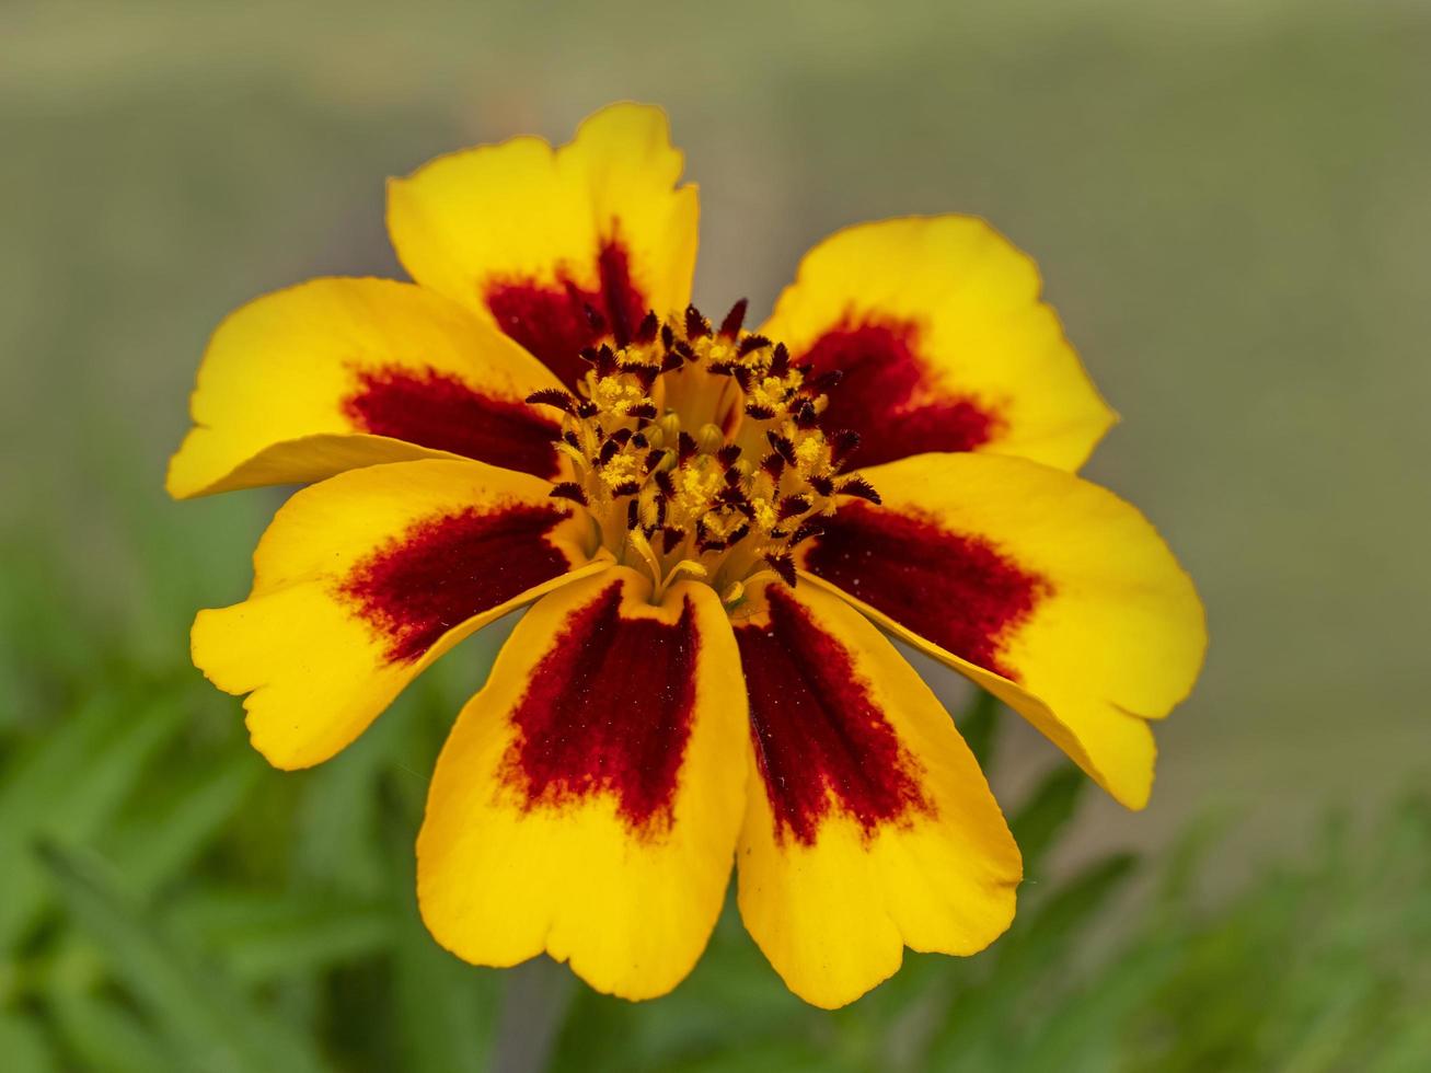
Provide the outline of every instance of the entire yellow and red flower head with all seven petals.
<path id="1" fill-rule="evenodd" d="M 193 657 L 299 768 L 531 605 L 432 780 L 432 934 L 657 996 L 734 863 L 771 964 L 839 1006 L 906 946 L 987 946 L 1020 880 L 886 632 L 1139 808 L 1202 608 L 1153 528 L 1073 475 L 1113 415 L 1025 255 L 967 217 L 863 225 L 757 330 L 743 302 L 713 323 L 680 173 L 634 104 L 561 149 L 454 153 L 389 186 L 414 283 L 318 279 L 225 320 L 169 491 L 316 484 Z"/>

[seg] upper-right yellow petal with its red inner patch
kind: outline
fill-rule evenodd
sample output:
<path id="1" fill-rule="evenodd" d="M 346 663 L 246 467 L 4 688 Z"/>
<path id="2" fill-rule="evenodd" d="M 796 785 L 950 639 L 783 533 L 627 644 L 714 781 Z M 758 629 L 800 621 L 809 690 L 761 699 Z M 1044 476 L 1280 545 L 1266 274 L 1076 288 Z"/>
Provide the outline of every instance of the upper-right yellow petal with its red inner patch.
<path id="1" fill-rule="evenodd" d="M 992 451 L 1078 469 L 1116 418 L 1039 290 L 983 220 L 863 223 L 806 255 L 761 333 L 844 373 L 823 421 L 861 435 L 857 465 Z"/>

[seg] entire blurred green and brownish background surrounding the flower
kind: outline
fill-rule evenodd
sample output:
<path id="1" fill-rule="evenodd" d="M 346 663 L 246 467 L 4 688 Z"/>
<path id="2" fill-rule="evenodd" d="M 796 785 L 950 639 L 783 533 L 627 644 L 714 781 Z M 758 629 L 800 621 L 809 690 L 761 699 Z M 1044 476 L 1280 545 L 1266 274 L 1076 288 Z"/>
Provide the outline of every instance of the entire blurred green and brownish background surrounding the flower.
<path id="1" fill-rule="evenodd" d="M 621 97 L 701 185 L 703 305 L 881 216 L 1033 253 L 1123 415 L 1086 475 L 1208 604 L 1141 814 L 922 665 L 1020 920 L 836 1014 L 731 913 L 643 1006 L 431 944 L 422 797 L 509 624 L 301 774 L 187 662 L 280 501 L 162 491 L 207 333 L 399 275 L 385 176 Z M 1428 100 L 1412 0 L 0 4 L 0 1066 L 1431 1067 Z"/>

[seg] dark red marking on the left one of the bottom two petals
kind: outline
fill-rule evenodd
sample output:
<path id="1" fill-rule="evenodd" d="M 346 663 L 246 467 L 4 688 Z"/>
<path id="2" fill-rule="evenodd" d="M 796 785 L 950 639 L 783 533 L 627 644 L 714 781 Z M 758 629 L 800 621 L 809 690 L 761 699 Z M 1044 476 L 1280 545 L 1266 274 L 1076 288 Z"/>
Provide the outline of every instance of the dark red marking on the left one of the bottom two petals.
<path id="1" fill-rule="evenodd" d="M 527 808 L 611 794 L 631 831 L 670 824 L 698 651 L 690 599 L 675 622 L 624 618 L 621 582 L 605 588 L 532 671 L 505 781 Z"/>

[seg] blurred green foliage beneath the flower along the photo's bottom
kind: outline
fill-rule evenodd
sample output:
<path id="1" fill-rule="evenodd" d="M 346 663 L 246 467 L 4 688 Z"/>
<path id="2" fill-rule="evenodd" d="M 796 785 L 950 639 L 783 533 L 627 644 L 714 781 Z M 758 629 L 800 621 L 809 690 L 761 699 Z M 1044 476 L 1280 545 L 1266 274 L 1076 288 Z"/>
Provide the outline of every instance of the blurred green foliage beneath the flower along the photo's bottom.
<path id="1" fill-rule="evenodd" d="M 149 541 L 163 536 L 135 544 Z M 173 559 L 162 572 L 160 589 Z M 1006 803 L 1029 880 L 989 951 L 910 954 L 824 1013 L 784 990 L 730 908 L 685 984 L 631 1004 L 555 967 L 465 966 L 416 917 L 425 777 L 492 640 L 441 664 L 343 755 L 292 774 L 249 750 L 236 701 L 182 650 L 146 665 L 126 638 L 77 629 L 86 609 L 49 587 L 7 588 L 0 614 L 9 695 L 52 712 L 20 722 L 11 710 L 0 730 L 6 1070 L 448 1073 L 491 1069 L 498 1052 L 512 1060 L 495 1067 L 531 1069 L 535 1044 L 552 1070 L 693 1073 L 1410 1073 L 1431 1054 L 1425 794 L 1364 827 L 1329 824 L 1299 863 L 1209 898 L 1215 824 L 1156 863 L 1106 853 L 1050 868 L 1092 793 L 1056 767 Z M 985 760 L 999 718 L 987 698 L 960 718 Z M 534 979 L 545 1010 L 524 1007 Z"/>

